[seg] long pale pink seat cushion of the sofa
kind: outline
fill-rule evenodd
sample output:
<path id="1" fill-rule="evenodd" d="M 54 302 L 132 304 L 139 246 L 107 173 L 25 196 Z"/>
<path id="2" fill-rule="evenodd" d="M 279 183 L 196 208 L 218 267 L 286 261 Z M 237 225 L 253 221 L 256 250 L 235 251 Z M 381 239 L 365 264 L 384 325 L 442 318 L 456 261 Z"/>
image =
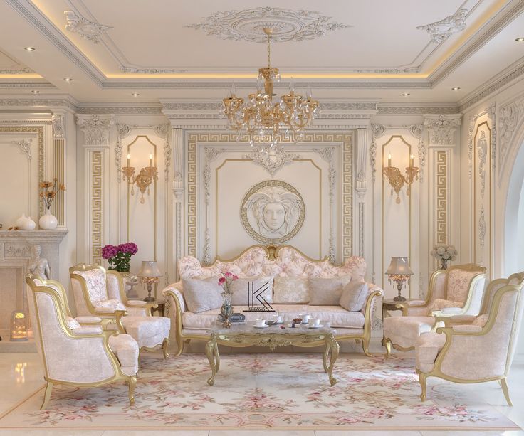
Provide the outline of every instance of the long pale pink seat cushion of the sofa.
<path id="1" fill-rule="evenodd" d="M 283 315 L 285 321 L 290 321 L 298 314 L 310 314 L 311 318 L 320 319 L 321 324 L 331 323 L 332 327 L 347 327 L 362 329 L 364 326 L 364 314 L 362 312 L 348 312 L 340 306 L 309 306 L 308 304 L 272 304 L 278 314 Z M 256 319 L 270 320 L 275 312 L 243 312 L 247 306 L 235 306 L 235 312 L 246 315 L 246 322 L 255 324 Z M 182 327 L 184 329 L 209 329 L 217 319 L 220 309 L 209 310 L 194 314 L 184 312 L 182 314 Z M 286 323 L 287 324 L 287 323 Z"/>

